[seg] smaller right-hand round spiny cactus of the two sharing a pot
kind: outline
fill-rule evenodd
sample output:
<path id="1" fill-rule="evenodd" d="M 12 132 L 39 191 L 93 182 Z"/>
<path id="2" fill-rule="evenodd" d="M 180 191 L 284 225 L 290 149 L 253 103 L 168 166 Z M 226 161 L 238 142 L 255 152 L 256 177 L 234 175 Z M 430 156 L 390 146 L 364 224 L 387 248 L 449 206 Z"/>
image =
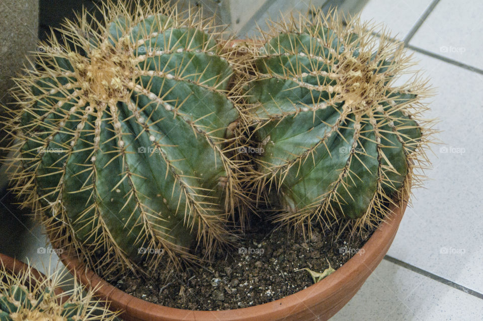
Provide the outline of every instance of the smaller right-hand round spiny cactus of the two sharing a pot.
<path id="1" fill-rule="evenodd" d="M 403 44 L 357 18 L 344 25 L 335 11 L 313 13 L 273 24 L 246 50 L 248 182 L 277 222 L 362 231 L 418 181 L 430 89 L 416 74 L 396 85 L 412 65 Z"/>

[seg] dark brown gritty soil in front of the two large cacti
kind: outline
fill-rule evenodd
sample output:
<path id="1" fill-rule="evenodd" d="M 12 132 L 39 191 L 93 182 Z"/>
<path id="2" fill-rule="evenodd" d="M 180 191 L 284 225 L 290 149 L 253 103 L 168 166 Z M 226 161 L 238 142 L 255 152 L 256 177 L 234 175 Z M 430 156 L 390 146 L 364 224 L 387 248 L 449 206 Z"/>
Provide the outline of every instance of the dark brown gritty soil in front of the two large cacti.
<path id="1" fill-rule="evenodd" d="M 273 228 L 262 222 L 246 235 L 237 249 L 215 255 L 212 262 L 183 272 L 164 271 L 152 280 L 126 275 L 110 283 L 143 300 L 192 310 L 222 310 L 270 302 L 313 284 L 309 268 L 323 272 L 337 269 L 358 255 L 372 232 L 364 235 L 314 229 L 304 240 L 302 233 Z"/>

